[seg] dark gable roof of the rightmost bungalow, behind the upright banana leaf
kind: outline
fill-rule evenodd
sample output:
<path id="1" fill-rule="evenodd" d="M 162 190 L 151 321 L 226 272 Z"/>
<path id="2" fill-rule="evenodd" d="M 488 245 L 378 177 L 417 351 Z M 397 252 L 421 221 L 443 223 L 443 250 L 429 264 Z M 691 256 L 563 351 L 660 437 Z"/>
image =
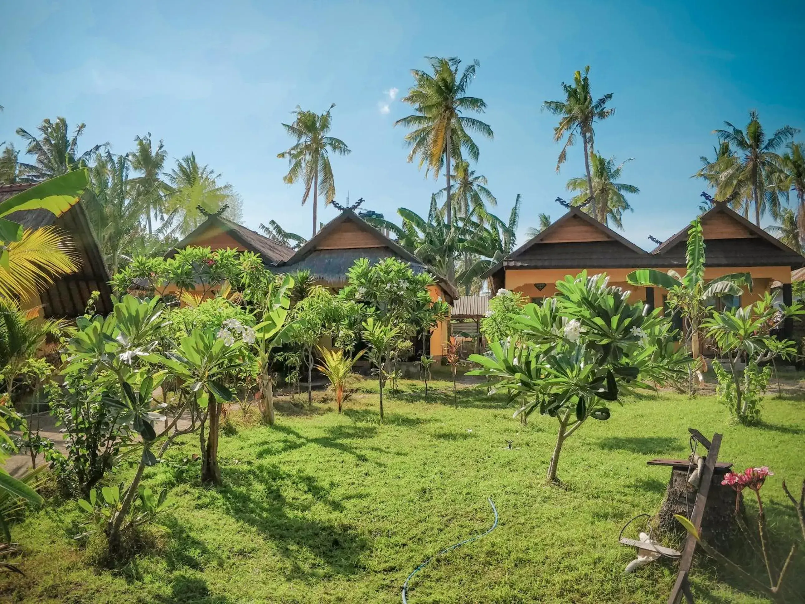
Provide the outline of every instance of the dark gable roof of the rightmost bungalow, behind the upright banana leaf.
<path id="1" fill-rule="evenodd" d="M 797 254 L 774 235 L 766 233 L 758 225 L 729 209 L 726 204 L 718 203 L 700 216 L 700 221 L 723 213 L 756 235 L 751 238 L 705 239 L 704 257 L 711 267 L 778 267 L 799 268 L 805 266 L 805 258 Z M 687 225 L 683 230 L 658 245 L 651 254 L 658 265 L 684 266 L 687 249 Z"/>

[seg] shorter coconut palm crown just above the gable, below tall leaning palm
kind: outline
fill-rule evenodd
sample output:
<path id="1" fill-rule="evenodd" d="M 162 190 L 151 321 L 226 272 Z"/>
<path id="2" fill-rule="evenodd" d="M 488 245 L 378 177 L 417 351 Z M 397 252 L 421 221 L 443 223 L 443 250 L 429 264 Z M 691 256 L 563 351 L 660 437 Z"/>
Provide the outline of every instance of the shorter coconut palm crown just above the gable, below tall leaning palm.
<path id="1" fill-rule="evenodd" d="M 637 195 L 640 189 L 634 184 L 615 182 L 621 178 L 623 167 L 632 159 L 615 165 L 615 158 L 604 159 L 597 153 L 592 154 L 592 193 L 589 193 L 589 180 L 584 176 L 577 176 L 568 180 L 568 191 L 578 191 L 576 197 L 570 200 L 571 205 L 584 208 L 584 212 L 592 215 L 597 221 L 609 224 L 611 220 L 618 229 L 623 229 L 621 218 L 626 210 L 633 211 L 624 193 Z M 597 199 L 596 205 L 588 204 L 590 197 Z"/>

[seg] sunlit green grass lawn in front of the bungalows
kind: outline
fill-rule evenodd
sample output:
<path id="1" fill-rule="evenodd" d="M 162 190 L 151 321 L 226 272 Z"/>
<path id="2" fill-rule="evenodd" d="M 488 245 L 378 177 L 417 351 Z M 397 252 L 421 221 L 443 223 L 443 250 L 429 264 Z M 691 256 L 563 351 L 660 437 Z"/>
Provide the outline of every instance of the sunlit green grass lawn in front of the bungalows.
<path id="1" fill-rule="evenodd" d="M 767 423 L 758 428 L 730 425 L 712 397 L 630 400 L 611 420 L 590 420 L 568 440 L 559 488 L 544 482 L 555 420 L 532 416 L 523 426 L 501 395 L 464 384 L 453 406 L 452 383 L 432 386 L 426 403 L 421 384 L 403 381 L 402 391 L 386 398 L 385 424 L 369 382 L 341 415 L 334 403 L 293 413 L 281 404 L 287 412 L 275 428 L 238 428 L 222 438 L 220 489 L 200 486 L 199 462 L 190 460 L 197 440 L 185 437 L 145 478 L 177 500 L 161 547 L 120 571 L 99 571 L 72 540 L 76 504 L 52 504 L 13 527 L 26 576 L 2 575 L 0 598 L 400 602 L 411 570 L 491 525 L 491 496 L 497 530 L 418 573 L 411 604 L 664 602 L 675 564 L 624 575 L 634 550 L 617 544 L 617 534 L 633 515 L 658 510 L 670 470 L 646 459 L 687 456 L 688 426 L 723 432 L 720 458 L 738 468 L 769 465 L 775 475 L 763 494 L 770 523 L 788 543 L 799 534 L 780 483 L 799 483 L 805 473 L 802 399 L 768 397 Z M 749 498 L 746 505 L 753 511 Z M 756 570 L 762 577 L 761 566 Z M 789 575 L 792 593 L 805 590 L 803 576 L 799 556 Z M 766 602 L 701 557 L 691 580 L 696 602 Z"/>

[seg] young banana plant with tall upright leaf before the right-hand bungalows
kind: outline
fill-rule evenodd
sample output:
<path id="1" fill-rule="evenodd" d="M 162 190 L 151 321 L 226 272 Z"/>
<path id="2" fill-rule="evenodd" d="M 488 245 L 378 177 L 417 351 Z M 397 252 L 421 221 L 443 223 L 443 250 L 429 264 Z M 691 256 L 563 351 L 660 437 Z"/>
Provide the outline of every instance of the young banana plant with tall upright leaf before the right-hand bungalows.
<path id="1" fill-rule="evenodd" d="M 668 306 L 682 315 L 691 354 L 694 359 L 699 359 L 699 333 L 702 321 L 708 315 L 708 300 L 716 296 L 741 296 L 742 286 L 751 292 L 752 275 L 729 273 L 709 281 L 704 279 L 704 232 L 698 218 L 691 222 L 691 228 L 687 231 L 685 258 L 687 267 L 684 276 L 674 270 L 664 273 L 643 268 L 630 272 L 626 279 L 632 285 L 668 290 Z"/>

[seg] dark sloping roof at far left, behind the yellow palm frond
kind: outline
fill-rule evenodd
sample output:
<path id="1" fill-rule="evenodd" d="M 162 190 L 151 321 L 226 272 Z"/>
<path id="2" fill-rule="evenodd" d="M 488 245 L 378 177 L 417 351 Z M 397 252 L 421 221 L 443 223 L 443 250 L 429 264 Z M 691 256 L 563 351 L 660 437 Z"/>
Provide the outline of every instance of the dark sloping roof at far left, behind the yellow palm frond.
<path id="1" fill-rule="evenodd" d="M 33 184 L 6 184 L 0 186 L 0 201 L 34 186 Z M 10 213 L 6 218 L 19 222 L 26 230 L 54 226 L 72 240 L 76 251 L 78 270 L 63 275 L 31 300 L 23 300 L 27 308 L 42 308 L 47 318 L 74 319 L 85 312 L 89 297 L 99 292 L 95 310 L 101 314 L 112 312 L 112 290 L 109 288 L 107 269 L 101 246 L 98 245 L 89 218 L 81 203 L 73 205 L 60 217 L 44 209 L 29 209 Z"/>

